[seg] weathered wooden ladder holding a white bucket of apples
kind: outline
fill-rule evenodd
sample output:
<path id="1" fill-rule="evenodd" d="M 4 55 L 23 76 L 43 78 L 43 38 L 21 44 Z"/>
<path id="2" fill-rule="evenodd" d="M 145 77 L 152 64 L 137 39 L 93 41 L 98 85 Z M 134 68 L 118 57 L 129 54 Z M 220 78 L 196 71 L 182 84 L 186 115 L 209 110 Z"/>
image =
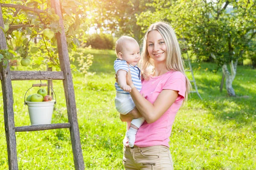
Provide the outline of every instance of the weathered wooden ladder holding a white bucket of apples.
<path id="1" fill-rule="evenodd" d="M 61 71 L 41 71 L 42 74 L 39 71 L 10 71 L 9 64 L 3 67 L 3 62 L 0 63 L 0 79 L 3 91 L 4 125 L 9 170 L 18 170 L 15 132 L 49 130 L 58 128 L 70 129 L 75 169 L 84 170 L 84 159 L 81 150 L 79 126 L 76 115 L 75 91 L 73 87 L 70 60 L 67 51 L 67 40 L 65 36 L 59 0 L 51 0 L 51 5 L 52 8 L 55 8 L 56 14 L 58 14 L 60 17 L 59 22 L 62 28 L 62 33 L 56 34 Z M 0 26 L 2 28 L 4 26 L 1 5 Z M 0 29 L 0 49 L 6 48 L 6 37 L 2 29 Z M 62 80 L 67 104 L 68 123 L 15 127 L 12 80 Z"/>

